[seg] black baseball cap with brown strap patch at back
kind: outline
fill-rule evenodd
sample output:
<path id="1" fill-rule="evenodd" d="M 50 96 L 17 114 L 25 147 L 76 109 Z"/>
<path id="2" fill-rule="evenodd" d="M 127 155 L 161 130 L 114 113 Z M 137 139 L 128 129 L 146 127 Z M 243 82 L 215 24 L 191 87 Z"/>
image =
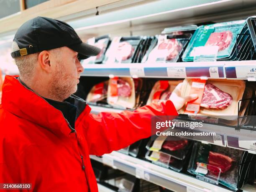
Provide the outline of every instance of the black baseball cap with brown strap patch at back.
<path id="1" fill-rule="evenodd" d="M 23 23 L 13 41 L 20 48 L 11 53 L 13 58 L 63 46 L 78 52 L 79 59 L 87 59 L 100 53 L 98 47 L 82 42 L 67 23 L 46 17 L 36 17 Z"/>

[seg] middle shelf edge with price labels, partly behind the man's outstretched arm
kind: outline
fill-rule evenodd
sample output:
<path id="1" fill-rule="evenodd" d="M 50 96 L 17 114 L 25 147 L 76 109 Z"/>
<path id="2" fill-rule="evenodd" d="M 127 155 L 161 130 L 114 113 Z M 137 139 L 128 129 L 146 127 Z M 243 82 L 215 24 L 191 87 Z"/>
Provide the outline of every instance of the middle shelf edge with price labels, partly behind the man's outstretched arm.
<path id="1" fill-rule="evenodd" d="M 92 108 L 91 113 L 98 114 L 100 112 L 115 112 L 120 113 L 123 110 L 115 108 L 105 108 L 95 105 L 90 105 Z M 177 120 L 184 121 L 184 120 Z M 225 146 L 230 148 L 237 148 L 249 153 L 256 154 L 256 146 L 254 145 L 256 138 L 256 131 L 240 129 L 236 130 L 233 127 L 223 125 L 203 124 L 203 128 L 195 128 L 194 131 L 198 132 L 214 132 L 218 136 L 219 140 L 214 139 L 214 136 L 209 138 L 208 141 L 202 141 L 204 143 L 211 143 L 218 146 Z"/>

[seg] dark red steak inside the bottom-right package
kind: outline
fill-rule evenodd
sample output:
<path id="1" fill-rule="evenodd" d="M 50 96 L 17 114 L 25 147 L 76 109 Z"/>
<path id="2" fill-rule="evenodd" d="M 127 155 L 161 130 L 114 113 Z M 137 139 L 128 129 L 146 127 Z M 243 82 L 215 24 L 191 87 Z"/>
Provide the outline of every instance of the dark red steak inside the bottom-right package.
<path id="1" fill-rule="evenodd" d="M 231 159 L 230 157 L 210 151 L 210 154 L 208 156 L 208 165 L 212 166 L 207 166 L 207 169 L 215 175 L 218 175 L 219 173 L 223 174 L 225 172 L 228 172 L 228 170 L 232 166 L 232 162 L 233 159 Z M 218 168 L 220 168 L 221 170 Z"/>

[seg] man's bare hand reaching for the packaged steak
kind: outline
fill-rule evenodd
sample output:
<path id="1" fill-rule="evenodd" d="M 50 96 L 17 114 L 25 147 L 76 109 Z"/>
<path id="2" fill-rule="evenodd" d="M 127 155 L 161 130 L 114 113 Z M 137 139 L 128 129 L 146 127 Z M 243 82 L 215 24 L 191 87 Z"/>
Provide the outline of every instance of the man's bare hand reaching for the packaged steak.
<path id="1" fill-rule="evenodd" d="M 182 97 L 181 88 L 182 88 L 182 83 L 179 83 L 177 87 L 175 87 L 174 91 L 172 92 L 172 95 L 169 97 L 169 100 L 173 102 L 176 110 L 180 110 L 186 102 L 195 100 L 198 97 L 197 94 L 192 94 L 186 97 Z"/>

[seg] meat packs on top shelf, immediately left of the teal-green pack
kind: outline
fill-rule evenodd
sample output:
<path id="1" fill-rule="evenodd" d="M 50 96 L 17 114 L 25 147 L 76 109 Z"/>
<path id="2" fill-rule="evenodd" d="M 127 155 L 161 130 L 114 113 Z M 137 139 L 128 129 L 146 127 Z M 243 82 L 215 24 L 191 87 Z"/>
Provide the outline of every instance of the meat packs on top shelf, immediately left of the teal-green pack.
<path id="1" fill-rule="evenodd" d="M 169 63 L 181 61 L 181 56 L 197 26 L 165 28 L 151 41 L 141 62 Z"/>

